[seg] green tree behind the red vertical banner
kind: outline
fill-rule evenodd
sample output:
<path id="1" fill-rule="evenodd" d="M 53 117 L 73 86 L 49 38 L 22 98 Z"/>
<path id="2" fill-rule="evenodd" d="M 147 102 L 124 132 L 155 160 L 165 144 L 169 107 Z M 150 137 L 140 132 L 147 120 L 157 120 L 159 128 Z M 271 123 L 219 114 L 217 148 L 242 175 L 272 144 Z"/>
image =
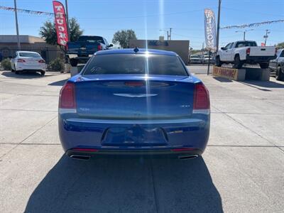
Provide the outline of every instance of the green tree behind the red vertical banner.
<path id="1" fill-rule="evenodd" d="M 69 20 L 70 26 L 70 41 L 76 41 L 83 31 L 80 29 L 80 25 L 76 18 L 71 18 Z M 51 21 L 45 21 L 43 26 L 40 27 L 40 37 L 43 38 L 46 43 L 50 45 L 56 45 L 58 43 L 58 36 L 56 34 L 55 23 Z"/>

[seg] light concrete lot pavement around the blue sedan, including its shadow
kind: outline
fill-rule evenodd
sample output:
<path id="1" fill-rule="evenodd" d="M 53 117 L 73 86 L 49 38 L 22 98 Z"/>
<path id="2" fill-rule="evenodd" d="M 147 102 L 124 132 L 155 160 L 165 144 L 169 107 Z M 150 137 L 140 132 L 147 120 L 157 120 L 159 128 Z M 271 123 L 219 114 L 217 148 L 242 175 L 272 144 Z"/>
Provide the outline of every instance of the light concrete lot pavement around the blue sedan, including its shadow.
<path id="1" fill-rule="evenodd" d="M 58 138 L 70 74 L 1 71 L 0 212 L 283 212 L 284 82 L 190 70 L 211 97 L 202 157 L 91 161 L 67 158 Z"/>

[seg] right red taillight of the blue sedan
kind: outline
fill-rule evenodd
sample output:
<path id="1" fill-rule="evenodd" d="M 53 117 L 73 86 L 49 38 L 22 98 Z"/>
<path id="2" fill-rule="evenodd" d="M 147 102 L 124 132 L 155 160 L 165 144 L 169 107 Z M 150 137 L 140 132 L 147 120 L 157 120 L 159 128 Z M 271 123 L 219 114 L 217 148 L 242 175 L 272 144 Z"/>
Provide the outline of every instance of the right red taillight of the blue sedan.
<path id="1" fill-rule="evenodd" d="M 193 113 L 209 114 L 209 92 L 202 83 L 195 84 Z"/>

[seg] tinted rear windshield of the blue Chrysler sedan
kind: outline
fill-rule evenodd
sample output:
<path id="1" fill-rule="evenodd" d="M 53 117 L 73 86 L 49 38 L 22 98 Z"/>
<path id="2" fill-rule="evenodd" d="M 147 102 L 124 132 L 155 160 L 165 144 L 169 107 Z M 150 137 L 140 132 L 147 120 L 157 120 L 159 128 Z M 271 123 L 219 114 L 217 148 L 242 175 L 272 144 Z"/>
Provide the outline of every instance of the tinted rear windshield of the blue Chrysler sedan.
<path id="1" fill-rule="evenodd" d="M 83 75 L 183 75 L 178 56 L 144 54 L 94 55 Z"/>

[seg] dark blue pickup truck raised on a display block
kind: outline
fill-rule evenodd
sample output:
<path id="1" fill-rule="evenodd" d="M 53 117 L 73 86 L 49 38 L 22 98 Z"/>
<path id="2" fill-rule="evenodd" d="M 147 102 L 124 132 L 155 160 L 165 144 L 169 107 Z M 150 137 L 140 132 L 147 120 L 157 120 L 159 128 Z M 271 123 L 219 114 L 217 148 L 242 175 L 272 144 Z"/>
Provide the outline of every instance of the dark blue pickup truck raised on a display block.
<path id="1" fill-rule="evenodd" d="M 78 63 L 86 63 L 99 50 L 108 50 L 112 47 L 102 36 L 82 35 L 75 42 L 67 43 L 66 55 L 70 65 L 76 67 Z"/>

